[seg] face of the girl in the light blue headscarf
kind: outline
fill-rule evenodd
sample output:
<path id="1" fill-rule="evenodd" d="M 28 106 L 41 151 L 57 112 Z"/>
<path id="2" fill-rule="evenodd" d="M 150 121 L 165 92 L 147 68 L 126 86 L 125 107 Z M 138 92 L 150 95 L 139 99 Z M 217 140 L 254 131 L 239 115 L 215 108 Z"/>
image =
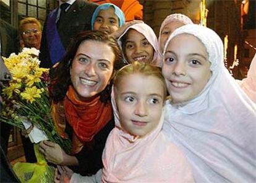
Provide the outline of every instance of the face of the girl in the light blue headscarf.
<path id="1" fill-rule="evenodd" d="M 93 24 L 93 30 L 100 30 L 111 34 L 119 29 L 119 19 L 114 13 L 114 8 L 101 10 Z"/>

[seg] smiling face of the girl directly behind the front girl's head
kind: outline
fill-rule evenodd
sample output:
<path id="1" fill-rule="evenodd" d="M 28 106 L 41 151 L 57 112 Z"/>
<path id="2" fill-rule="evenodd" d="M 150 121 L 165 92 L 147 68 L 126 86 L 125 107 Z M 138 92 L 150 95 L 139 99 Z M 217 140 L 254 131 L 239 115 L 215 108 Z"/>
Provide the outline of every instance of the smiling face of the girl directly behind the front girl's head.
<path id="1" fill-rule="evenodd" d="M 128 30 L 124 44 L 124 55 L 129 63 L 135 61 L 150 63 L 153 60 L 154 48 L 142 33 L 134 29 Z"/>

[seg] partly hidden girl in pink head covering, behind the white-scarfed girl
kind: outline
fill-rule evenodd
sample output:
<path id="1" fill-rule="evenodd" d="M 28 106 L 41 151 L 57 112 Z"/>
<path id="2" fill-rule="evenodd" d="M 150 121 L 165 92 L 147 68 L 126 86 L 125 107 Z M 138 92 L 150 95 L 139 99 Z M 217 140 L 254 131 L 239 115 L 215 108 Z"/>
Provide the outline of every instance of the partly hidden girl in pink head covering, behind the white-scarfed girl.
<path id="1" fill-rule="evenodd" d="M 163 20 L 158 36 L 158 43 L 161 53 L 163 53 L 164 44 L 166 43 L 169 35 L 173 33 L 176 28 L 187 24 L 193 24 L 193 22 L 184 14 L 171 14 Z"/>

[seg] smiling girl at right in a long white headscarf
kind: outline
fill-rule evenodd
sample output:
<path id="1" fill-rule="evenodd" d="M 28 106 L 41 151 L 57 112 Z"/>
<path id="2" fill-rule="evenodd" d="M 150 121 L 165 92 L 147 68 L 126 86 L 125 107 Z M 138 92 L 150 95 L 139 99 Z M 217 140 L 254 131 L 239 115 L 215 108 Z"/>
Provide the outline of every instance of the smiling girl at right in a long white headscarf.
<path id="1" fill-rule="evenodd" d="M 163 130 L 195 182 L 255 182 L 256 107 L 224 67 L 220 37 L 200 25 L 178 28 L 162 72 L 172 98 Z"/>

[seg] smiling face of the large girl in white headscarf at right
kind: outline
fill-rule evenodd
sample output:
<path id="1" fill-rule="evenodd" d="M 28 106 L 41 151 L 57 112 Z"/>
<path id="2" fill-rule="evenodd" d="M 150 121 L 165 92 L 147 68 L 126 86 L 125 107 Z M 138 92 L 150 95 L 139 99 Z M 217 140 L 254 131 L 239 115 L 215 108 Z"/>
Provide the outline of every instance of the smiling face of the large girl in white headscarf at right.
<path id="1" fill-rule="evenodd" d="M 164 54 L 162 73 L 173 103 L 192 100 L 211 77 L 205 46 L 195 36 L 175 36 Z"/>

